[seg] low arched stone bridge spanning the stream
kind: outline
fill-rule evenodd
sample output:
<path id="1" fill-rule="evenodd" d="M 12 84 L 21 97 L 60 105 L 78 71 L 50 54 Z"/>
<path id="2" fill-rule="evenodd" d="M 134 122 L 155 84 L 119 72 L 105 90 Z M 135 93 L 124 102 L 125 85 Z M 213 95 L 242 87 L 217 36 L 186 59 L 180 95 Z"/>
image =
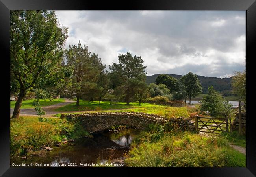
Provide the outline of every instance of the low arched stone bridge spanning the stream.
<path id="1" fill-rule="evenodd" d="M 80 123 L 89 133 L 102 131 L 115 125 L 127 125 L 143 130 L 148 124 L 152 123 L 161 125 L 171 123 L 170 125 L 176 126 L 181 130 L 195 129 L 194 121 L 189 118 L 166 118 L 156 114 L 138 112 L 61 114 L 61 118 Z"/>

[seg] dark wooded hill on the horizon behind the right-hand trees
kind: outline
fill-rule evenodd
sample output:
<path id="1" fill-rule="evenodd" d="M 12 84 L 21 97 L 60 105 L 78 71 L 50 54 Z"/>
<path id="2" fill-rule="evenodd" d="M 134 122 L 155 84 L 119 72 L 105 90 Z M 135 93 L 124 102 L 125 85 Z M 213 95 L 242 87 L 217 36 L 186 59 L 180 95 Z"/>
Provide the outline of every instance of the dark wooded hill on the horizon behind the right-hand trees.
<path id="1" fill-rule="evenodd" d="M 152 76 L 147 76 L 146 83 L 149 85 L 150 83 L 154 83 L 156 81 L 156 77 L 160 74 L 154 74 Z M 178 74 L 167 74 L 171 77 L 176 79 L 180 79 L 182 75 Z M 207 76 L 197 76 L 202 87 L 203 87 L 203 94 L 207 93 L 208 86 L 213 85 L 213 88 L 224 95 L 232 95 L 231 94 L 231 79 L 230 78 L 217 78 L 217 77 L 207 77 Z"/>

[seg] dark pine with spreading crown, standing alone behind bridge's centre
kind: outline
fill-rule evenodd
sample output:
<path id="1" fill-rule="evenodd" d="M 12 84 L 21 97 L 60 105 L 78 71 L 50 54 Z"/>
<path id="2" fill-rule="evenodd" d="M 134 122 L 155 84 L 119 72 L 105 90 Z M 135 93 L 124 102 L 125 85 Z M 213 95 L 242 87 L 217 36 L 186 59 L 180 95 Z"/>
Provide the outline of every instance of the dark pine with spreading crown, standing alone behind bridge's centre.
<path id="1" fill-rule="evenodd" d="M 130 104 L 130 99 L 135 94 L 136 82 L 140 80 L 138 78 L 142 75 L 146 75 L 146 66 L 143 66 L 143 60 L 136 55 L 132 57 L 132 54 L 127 52 L 126 55 L 118 56 L 119 63 L 113 63 L 109 65 L 109 69 L 115 74 L 118 79 L 121 80 L 119 89 L 122 90 L 125 95 L 126 105 Z"/>

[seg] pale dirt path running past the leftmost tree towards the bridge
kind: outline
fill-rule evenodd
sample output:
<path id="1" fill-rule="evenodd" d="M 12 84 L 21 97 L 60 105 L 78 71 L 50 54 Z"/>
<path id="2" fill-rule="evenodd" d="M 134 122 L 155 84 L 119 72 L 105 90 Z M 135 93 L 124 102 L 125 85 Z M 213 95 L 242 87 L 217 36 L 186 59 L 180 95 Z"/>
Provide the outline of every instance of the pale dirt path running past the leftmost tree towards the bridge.
<path id="1" fill-rule="evenodd" d="M 52 117 L 54 114 L 59 114 L 59 113 L 76 113 L 76 112 L 92 112 L 95 110 L 89 110 L 89 111 L 55 111 L 56 108 L 58 107 L 63 107 L 65 105 L 69 105 L 70 103 L 76 102 L 74 100 L 71 99 L 65 99 L 65 102 L 63 103 L 58 103 L 55 105 L 50 105 L 50 106 L 45 106 L 42 107 L 46 114 L 43 117 Z M 108 110 L 112 110 L 112 111 L 117 111 L 117 110 L 126 110 L 126 109 L 137 109 L 137 108 L 121 108 L 121 109 L 104 109 L 104 110 L 100 110 L 100 111 L 108 111 Z M 10 116 L 12 116 L 13 114 L 13 108 L 10 108 Z M 30 109 L 20 109 L 20 115 L 26 115 L 26 116 L 37 116 L 37 112 L 35 112 L 35 109 L 30 108 Z"/>

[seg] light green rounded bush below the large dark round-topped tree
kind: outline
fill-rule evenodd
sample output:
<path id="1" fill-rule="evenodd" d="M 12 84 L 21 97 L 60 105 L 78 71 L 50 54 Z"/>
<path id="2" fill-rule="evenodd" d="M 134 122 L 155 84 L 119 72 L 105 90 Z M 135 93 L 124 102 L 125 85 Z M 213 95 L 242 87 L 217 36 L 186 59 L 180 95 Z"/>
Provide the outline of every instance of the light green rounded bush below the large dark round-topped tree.
<path id="1" fill-rule="evenodd" d="M 155 83 L 150 83 L 148 85 L 148 90 L 151 97 L 165 96 L 170 93 L 170 90 L 167 89 L 166 85 L 161 83 L 159 85 L 156 85 Z"/>

